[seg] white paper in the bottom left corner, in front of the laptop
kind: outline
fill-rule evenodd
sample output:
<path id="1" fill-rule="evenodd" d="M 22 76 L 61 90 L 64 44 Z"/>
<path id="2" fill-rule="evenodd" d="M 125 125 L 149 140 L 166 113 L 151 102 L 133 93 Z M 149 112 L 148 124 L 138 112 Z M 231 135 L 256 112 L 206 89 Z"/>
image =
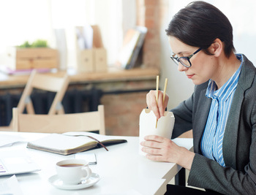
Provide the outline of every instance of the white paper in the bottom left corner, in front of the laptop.
<path id="1" fill-rule="evenodd" d="M 0 181 L 0 195 L 4 194 L 23 195 L 15 175 L 7 180 Z"/>

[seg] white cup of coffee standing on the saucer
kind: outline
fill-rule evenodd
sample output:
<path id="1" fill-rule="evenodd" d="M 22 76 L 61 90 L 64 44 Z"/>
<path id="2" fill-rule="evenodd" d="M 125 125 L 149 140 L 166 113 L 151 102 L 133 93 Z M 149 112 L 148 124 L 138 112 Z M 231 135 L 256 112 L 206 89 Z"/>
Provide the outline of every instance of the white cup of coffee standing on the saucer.
<path id="1" fill-rule="evenodd" d="M 89 161 L 83 159 L 59 161 L 56 163 L 56 172 L 66 185 L 76 185 L 91 176 Z"/>

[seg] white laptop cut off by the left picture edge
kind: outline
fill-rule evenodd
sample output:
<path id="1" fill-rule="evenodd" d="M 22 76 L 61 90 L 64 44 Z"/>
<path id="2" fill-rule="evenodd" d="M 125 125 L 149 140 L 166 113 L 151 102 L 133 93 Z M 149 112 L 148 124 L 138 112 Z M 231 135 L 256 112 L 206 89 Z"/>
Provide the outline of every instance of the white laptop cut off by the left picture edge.
<path id="1" fill-rule="evenodd" d="M 37 172 L 39 166 L 24 151 L 0 151 L 0 176 Z"/>

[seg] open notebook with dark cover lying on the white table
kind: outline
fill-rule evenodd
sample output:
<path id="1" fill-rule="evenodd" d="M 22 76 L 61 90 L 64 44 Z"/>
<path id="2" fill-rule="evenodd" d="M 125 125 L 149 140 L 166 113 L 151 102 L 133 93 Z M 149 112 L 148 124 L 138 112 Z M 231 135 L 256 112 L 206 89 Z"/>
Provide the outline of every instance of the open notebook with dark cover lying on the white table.
<path id="1" fill-rule="evenodd" d="M 127 140 L 91 132 L 72 131 L 64 134 L 48 134 L 45 137 L 28 142 L 27 148 L 69 155 L 94 148 L 101 148 L 102 145 L 108 146 L 123 142 L 127 142 Z"/>

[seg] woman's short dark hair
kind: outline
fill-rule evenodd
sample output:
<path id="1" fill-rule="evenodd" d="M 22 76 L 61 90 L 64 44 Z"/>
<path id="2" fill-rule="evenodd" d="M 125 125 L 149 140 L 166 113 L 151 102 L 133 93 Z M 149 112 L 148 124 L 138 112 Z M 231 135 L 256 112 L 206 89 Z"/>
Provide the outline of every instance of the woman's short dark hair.
<path id="1" fill-rule="evenodd" d="M 227 58 L 235 52 L 230 21 L 217 7 L 205 1 L 193 1 L 181 9 L 165 31 L 168 36 L 176 37 L 187 45 L 202 47 L 208 55 L 212 55 L 208 47 L 217 38 L 224 42 Z"/>

